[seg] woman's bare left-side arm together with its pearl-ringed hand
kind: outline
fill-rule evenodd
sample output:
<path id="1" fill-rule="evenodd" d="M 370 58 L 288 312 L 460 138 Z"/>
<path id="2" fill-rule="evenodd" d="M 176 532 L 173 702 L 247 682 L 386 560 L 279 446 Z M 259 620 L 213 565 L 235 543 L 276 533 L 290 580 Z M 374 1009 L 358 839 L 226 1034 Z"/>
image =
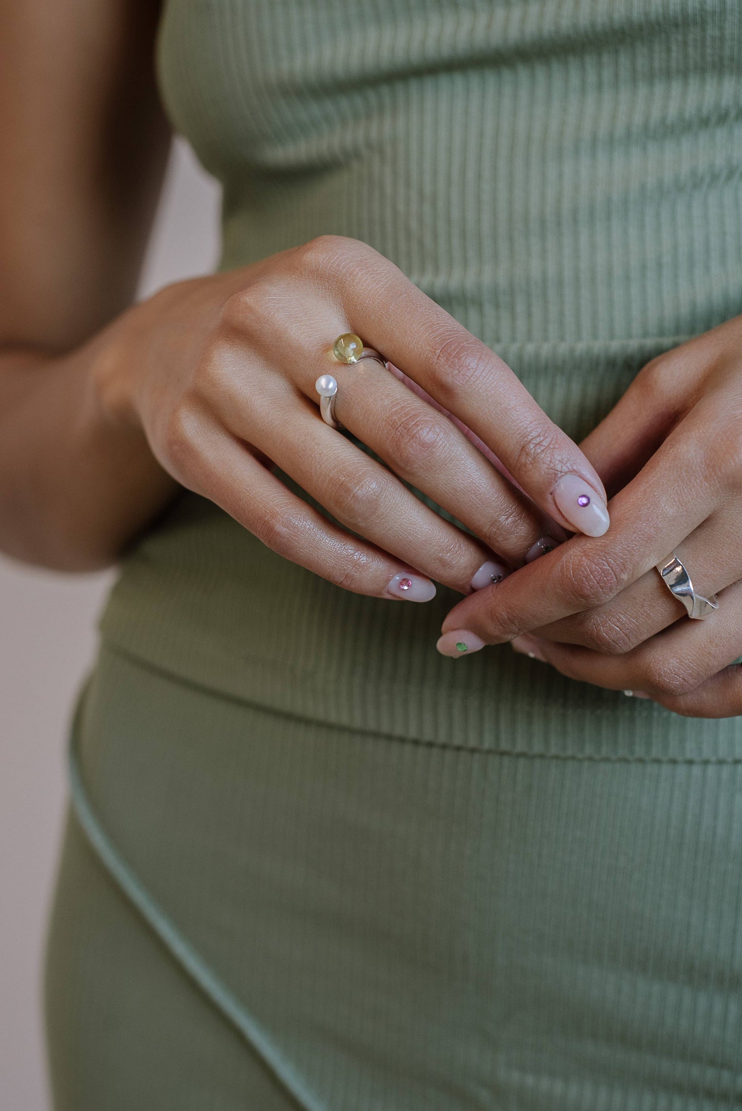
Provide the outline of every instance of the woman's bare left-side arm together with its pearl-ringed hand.
<path id="1" fill-rule="evenodd" d="M 570 526 L 553 497 L 563 476 L 605 498 L 505 363 L 356 240 L 323 236 L 127 308 L 169 141 L 151 76 L 157 8 L 13 0 L 0 11 L 4 551 L 106 565 L 180 483 L 346 589 L 390 597 L 395 575 L 416 572 L 466 593 L 493 551 L 521 563 L 546 516 Z M 378 363 L 338 363 L 332 343 L 348 331 L 458 427 Z M 321 421 L 325 372 L 339 382 L 338 419 L 384 463 Z"/>

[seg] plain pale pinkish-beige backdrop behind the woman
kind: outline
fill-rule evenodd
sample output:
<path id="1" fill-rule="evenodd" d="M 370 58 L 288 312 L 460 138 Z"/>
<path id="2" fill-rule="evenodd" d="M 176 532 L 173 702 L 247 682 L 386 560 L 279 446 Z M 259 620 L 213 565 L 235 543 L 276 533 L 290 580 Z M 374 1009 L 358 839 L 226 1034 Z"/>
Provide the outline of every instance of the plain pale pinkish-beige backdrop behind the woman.
<path id="1" fill-rule="evenodd" d="M 211 269 L 218 188 L 177 141 L 141 281 Z M 65 807 L 65 733 L 111 574 L 0 557 L 0 1108 L 48 1111 L 41 960 Z"/>

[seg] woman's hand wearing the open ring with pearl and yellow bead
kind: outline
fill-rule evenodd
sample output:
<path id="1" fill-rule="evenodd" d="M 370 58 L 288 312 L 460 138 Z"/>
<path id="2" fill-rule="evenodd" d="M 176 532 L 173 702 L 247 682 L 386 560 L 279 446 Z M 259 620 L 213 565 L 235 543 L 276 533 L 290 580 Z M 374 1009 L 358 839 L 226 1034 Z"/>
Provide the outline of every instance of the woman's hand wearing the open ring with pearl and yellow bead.
<path id="1" fill-rule="evenodd" d="M 377 348 L 471 428 L 531 497 L 379 363 L 339 363 L 332 347 L 343 332 Z M 436 579 L 468 593 L 507 573 L 493 552 L 520 565 L 540 551 L 550 517 L 607 528 L 595 470 L 513 372 L 355 240 L 321 237 L 170 287 L 93 348 L 97 396 L 112 421 L 142 429 L 169 474 L 268 547 L 349 590 L 425 601 Z M 321 421 L 315 381 L 326 372 L 338 381 L 338 420 L 386 467 Z"/>

